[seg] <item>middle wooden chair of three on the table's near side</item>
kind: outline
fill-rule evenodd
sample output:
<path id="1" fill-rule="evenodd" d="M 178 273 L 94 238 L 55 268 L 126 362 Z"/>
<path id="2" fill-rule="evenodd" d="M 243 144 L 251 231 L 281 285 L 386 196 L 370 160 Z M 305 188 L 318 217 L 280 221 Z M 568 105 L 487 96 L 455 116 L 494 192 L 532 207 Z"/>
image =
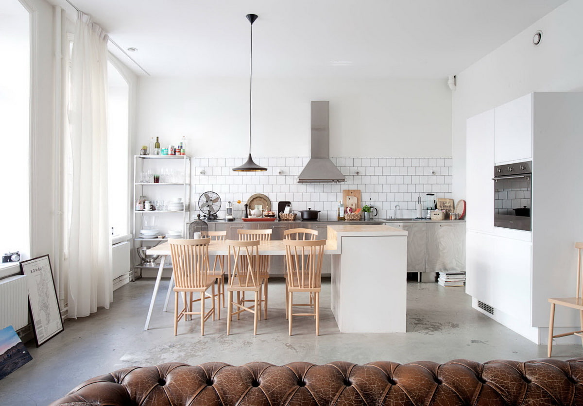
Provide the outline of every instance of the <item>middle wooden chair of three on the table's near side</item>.
<path id="1" fill-rule="evenodd" d="M 259 241 L 226 240 L 229 246 L 229 286 L 227 287 L 227 336 L 231 334 L 231 320 L 242 312 L 253 313 L 253 334 L 257 334 L 257 322 L 261 313 L 261 284 L 263 278 L 259 276 Z M 245 306 L 245 292 L 254 292 L 252 306 Z M 237 301 L 233 301 L 233 292 L 237 292 Z M 243 294 L 243 296 L 241 296 Z M 237 308 L 233 312 L 233 306 Z"/>

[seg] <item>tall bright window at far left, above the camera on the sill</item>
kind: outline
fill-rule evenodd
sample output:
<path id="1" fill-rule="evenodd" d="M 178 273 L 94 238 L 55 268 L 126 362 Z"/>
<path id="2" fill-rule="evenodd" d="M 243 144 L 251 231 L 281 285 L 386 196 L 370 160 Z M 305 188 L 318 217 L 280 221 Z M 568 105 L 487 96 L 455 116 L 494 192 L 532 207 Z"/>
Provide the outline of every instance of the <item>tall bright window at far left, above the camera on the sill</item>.
<path id="1" fill-rule="evenodd" d="M 30 13 L 0 2 L 0 253 L 30 257 Z"/>

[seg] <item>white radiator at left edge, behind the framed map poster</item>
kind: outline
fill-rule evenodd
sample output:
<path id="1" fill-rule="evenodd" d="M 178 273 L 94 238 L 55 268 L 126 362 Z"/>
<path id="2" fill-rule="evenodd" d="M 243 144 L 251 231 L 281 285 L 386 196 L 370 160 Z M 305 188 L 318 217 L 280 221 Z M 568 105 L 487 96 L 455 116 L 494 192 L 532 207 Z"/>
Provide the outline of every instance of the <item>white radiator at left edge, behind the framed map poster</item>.
<path id="1" fill-rule="evenodd" d="M 12 326 L 22 329 L 29 321 L 29 294 L 26 276 L 15 275 L 0 280 L 0 330 Z"/>

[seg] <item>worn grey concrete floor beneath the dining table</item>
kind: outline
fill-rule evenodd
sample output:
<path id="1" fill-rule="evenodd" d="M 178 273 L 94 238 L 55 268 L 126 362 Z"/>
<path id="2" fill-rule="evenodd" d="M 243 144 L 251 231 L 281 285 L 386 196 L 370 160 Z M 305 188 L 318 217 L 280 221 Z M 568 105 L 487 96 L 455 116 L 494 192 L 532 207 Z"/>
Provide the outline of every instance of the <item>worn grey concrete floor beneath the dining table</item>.
<path id="1" fill-rule="evenodd" d="M 340 334 L 330 310 L 327 280 L 321 299 L 321 335 L 314 334 L 314 319 L 296 317 L 294 336 L 290 337 L 284 316 L 285 285 L 283 279 L 273 279 L 269 283 L 269 319 L 259 323 L 257 336 L 252 334 L 251 315 L 244 315 L 231 324 L 231 336 L 226 335 L 223 316 L 206 323 L 204 337 L 196 318 L 181 322 L 174 337 L 172 313 L 161 312 L 163 294 L 159 294 L 150 330 L 143 330 L 153 284 L 152 279 L 141 279 L 125 285 L 114 292 L 109 310 L 68 320 L 64 332 L 40 348 L 28 343 L 33 361 L 0 381 L 0 405 L 45 405 L 90 377 L 127 366 L 170 361 L 191 365 L 266 361 L 282 365 L 292 361 L 405 363 L 455 358 L 527 361 L 546 356 L 546 346 L 535 345 L 473 310 L 463 287 L 409 282 L 407 333 Z M 163 280 L 161 292 L 166 292 L 167 286 L 168 280 Z M 363 309 L 365 305 L 363 300 Z M 553 350 L 557 359 L 582 353 L 580 345 L 559 345 Z"/>

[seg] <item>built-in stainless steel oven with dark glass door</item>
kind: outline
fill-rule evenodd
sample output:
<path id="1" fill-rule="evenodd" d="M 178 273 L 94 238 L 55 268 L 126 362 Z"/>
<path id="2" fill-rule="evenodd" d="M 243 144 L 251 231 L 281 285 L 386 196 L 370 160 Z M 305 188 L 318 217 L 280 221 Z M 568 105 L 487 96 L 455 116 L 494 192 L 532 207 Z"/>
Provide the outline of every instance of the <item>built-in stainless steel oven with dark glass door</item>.
<path id="1" fill-rule="evenodd" d="M 531 231 L 532 161 L 494 167 L 494 226 Z"/>

